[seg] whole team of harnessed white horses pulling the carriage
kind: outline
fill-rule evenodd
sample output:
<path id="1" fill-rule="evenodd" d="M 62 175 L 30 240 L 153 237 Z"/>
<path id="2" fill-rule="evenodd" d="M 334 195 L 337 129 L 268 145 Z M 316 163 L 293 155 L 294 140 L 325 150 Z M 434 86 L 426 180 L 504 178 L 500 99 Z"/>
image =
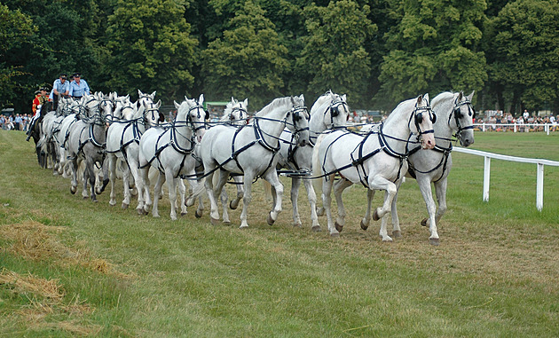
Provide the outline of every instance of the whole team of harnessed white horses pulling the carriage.
<path id="1" fill-rule="evenodd" d="M 463 146 L 474 143 L 473 95 L 443 92 L 432 102 L 428 94 L 421 95 L 401 102 L 384 122 L 358 130 L 348 129 L 350 109 L 345 95 L 330 90 L 316 100 L 310 112 L 303 95 L 276 98 L 251 116 L 247 99 L 232 98 L 222 119 L 213 123 L 204 109 L 203 95 L 175 102 L 175 119 L 165 122 L 161 100 L 154 102 L 155 92 L 138 90 L 136 102 L 131 102 L 130 96 L 95 93 L 80 100 L 60 98 L 57 111 L 43 117 L 37 145 L 49 153 L 55 173 L 72 177 L 71 193 L 77 191 L 78 169 L 81 162 L 85 164 L 83 198 L 97 201 L 96 195 L 110 182 L 109 204 L 114 206 L 114 182 L 117 173 L 122 173 L 122 208 L 128 208 L 132 192 L 137 191 L 138 213 L 147 214 L 151 208 L 153 216 L 159 216 L 158 200 L 167 181 L 171 219 L 177 219 L 178 207 L 185 215 L 186 207 L 196 200 L 195 216 L 201 217 L 202 197 L 208 196 L 209 218 L 217 224 L 219 196 L 224 224 L 230 223 L 227 208 L 237 208 L 243 200 L 240 228 L 248 227 L 252 184 L 258 178 L 269 184 L 272 193 L 267 222 L 272 225 L 278 219 L 283 197 L 278 173 L 285 173 L 292 177 L 293 224 L 302 225 L 297 198 L 303 181 L 311 205 L 311 229 L 320 231 L 319 216 L 326 213 L 330 235 L 338 236 L 346 216 L 342 192 L 358 183 L 367 189 L 361 228 L 366 230 L 371 218 L 382 219 L 383 241 L 392 240 L 387 231 L 389 216 L 392 237 L 401 236 L 398 188 L 403 177 L 413 177 L 429 213 L 421 224 L 429 224 L 429 242 L 437 245 L 437 223 L 445 214 L 447 177 L 453 164 L 453 138 Z M 150 195 L 153 173 L 159 175 Z M 184 179 L 191 187 L 188 197 Z M 224 191 L 230 180 L 237 184 L 237 196 L 231 204 Z M 431 183 L 435 185 L 438 209 Z M 315 189 L 321 192 L 323 207 L 317 206 Z M 332 190 L 337 204 L 335 218 Z M 385 194 L 382 206 L 373 211 L 376 190 Z"/>

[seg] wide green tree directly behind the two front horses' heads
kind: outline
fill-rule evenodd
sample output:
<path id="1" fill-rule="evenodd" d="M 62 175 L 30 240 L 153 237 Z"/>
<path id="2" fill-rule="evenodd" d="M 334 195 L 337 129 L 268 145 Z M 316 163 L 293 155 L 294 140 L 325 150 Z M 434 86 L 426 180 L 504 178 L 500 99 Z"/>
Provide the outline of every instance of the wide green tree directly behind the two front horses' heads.
<path id="1" fill-rule="evenodd" d="M 481 90 L 487 80 L 479 51 L 485 0 L 390 0 L 398 25 L 387 33 L 377 101 L 395 106 L 426 91 Z M 388 98 L 388 99 L 387 99 Z"/>

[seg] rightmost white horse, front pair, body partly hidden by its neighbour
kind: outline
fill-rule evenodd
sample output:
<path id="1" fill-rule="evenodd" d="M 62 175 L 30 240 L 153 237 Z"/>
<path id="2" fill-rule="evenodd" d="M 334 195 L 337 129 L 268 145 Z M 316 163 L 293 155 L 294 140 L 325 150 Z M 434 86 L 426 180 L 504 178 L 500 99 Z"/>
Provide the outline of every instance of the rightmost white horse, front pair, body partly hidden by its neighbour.
<path id="1" fill-rule="evenodd" d="M 410 153 L 408 157 L 409 169 L 406 176 L 415 178 L 420 187 L 421 195 L 423 196 L 423 200 L 425 200 L 429 213 L 429 243 L 433 245 L 439 244 L 437 223 L 446 211 L 446 178 L 453 168 L 453 159 L 451 156 L 453 150 L 453 135 L 458 138 L 462 146 L 468 146 L 474 143 L 474 126 L 472 119 L 475 117 L 476 112 L 471 106 L 473 96 L 474 92 L 467 97 L 462 91 L 456 93 L 445 91 L 433 98 L 431 100 L 431 107 L 433 108 L 433 112 L 437 115 L 437 121 L 433 123 L 437 145 L 433 149 L 421 149 Z M 431 183 L 435 185 L 438 210 L 433 200 Z M 398 193 L 392 202 L 391 210 L 393 228 L 398 229 L 396 232 L 398 236 L 399 220 L 398 209 L 396 207 L 397 200 Z M 388 222 L 388 214 L 382 217 L 382 223 L 386 222 Z M 428 219 L 425 218 L 421 221 L 421 225 L 425 226 L 427 222 Z"/>

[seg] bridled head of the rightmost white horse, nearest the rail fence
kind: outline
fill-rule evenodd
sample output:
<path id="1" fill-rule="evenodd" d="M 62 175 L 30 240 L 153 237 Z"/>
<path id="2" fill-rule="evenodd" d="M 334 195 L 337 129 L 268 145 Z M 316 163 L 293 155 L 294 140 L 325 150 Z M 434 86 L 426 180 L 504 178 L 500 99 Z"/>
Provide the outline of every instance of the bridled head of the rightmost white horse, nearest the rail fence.
<path id="1" fill-rule="evenodd" d="M 456 130 L 456 138 L 460 140 L 462 146 L 468 146 L 474 143 L 474 119 L 476 118 L 476 110 L 472 106 L 472 98 L 474 97 L 474 91 L 468 96 L 464 95 L 461 91 L 454 100 L 453 113 L 454 124 L 451 124 L 451 116 L 448 117 L 448 124 Z"/>

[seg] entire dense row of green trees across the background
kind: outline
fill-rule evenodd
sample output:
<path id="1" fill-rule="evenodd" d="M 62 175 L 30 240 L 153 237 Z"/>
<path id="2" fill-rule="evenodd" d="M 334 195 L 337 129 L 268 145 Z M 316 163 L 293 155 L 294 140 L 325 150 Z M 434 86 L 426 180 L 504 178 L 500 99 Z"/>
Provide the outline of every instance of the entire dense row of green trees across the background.
<path id="1" fill-rule="evenodd" d="M 328 89 L 353 108 L 476 90 L 478 109 L 559 113 L 557 0 L 4 0 L 0 105 L 79 71 L 166 104 Z"/>

